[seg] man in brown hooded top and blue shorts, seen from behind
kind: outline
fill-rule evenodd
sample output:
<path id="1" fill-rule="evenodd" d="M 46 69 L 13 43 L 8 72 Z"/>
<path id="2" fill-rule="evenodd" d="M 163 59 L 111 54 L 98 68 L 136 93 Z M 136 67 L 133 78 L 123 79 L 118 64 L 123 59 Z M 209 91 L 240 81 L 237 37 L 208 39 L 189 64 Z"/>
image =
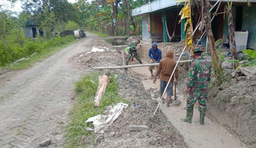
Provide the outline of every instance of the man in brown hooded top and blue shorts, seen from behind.
<path id="1" fill-rule="evenodd" d="M 173 60 L 173 51 L 171 49 L 168 49 L 166 52 L 166 57 L 161 59 L 158 65 L 158 68 L 155 73 L 155 78 L 153 80 L 153 83 L 156 82 L 156 77 L 159 76 L 160 74 L 160 96 L 162 97 L 165 88 L 167 86 L 167 83 L 171 77 L 171 74 L 174 70 L 174 67 L 176 65 L 176 61 Z M 178 71 L 178 66 L 176 67 L 174 71 L 174 75 L 176 78 L 175 84 L 178 83 L 178 77 L 179 77 L 179 71 Z M 173 96 L 173 81 L 174 81 L 174 76 L 171 78 L 171 81 L 169 85 L 166 88 L 166 93 L 167 93 L 167 107 L 169 107 L 169 103 L 171 101 L 171 96 Z"/>

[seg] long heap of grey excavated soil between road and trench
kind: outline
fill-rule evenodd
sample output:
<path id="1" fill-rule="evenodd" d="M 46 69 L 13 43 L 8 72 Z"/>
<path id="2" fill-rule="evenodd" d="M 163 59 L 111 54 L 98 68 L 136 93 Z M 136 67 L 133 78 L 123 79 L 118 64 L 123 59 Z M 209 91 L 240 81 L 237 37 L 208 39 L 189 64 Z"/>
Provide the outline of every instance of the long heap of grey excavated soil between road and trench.
<path id="1" fill-rule="evenodd" d="M 109 51 L 87 54 L 78 54 L 71 60 L 78 68 L 92 70 L 95 66 L 120 66 L 122 56 L 105 41 L 93 41 L 86 48 L 93 46 L 109 47 Z M 113 50 L 113 51 L 111 51 Z M 83 55 L 82 55 L 83 54 Z M 82 56 L 80 56 L 82 55 Z M 140 77 L 128 69 L 128 76 L 124 76 L 123 69 L 105 70 L 118 75 L 119 94 L 123 99 L 133 104 L 141 105 L 141 108 L 129 106 L 123 113 L 105 130 L 104 134 L 94 134 L 97 141 L 96 147 L 187 147 L 184 137 L 168 121 L 161 109 L 158 109 L 152 118 L 157 101 L 151 98 L 140 82 Z M 149 130 L 130 131 L 129 125 L 146 125 Z M 86 138 L 85 138 L 86 140 Z M 93 147 L 93 145 L 91 145 Z"/>

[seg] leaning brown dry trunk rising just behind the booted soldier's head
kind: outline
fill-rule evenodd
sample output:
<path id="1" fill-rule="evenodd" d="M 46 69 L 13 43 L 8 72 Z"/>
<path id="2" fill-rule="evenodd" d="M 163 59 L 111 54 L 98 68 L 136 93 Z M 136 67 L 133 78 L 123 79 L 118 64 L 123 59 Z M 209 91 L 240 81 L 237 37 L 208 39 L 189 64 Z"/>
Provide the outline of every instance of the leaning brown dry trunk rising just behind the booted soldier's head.
<path id="1" fill-rule="evenodd" d="M 219 57 L 218 54 L 215 50 L 215 44 L 214 44 L 214 39 L 213 39 L 213 32 L 211 28 L 211 20 L 210 20 L 210 13 L 208 11 L 208 8 L 206 8 L 206 0 L 201 1 L 201 6 L 203 6 L 203 14 L 207 14 L 203 16 L 203 20 L 206 22 L 206 29 L 207 29 L 207 37 L 208 37 L 208 42 L 209 42 L 209 48 L 211 52 L 211 56 L 213 58 L 213 64 L 214 64 L 214 72 L 215 74 L 219 73 Z"/>

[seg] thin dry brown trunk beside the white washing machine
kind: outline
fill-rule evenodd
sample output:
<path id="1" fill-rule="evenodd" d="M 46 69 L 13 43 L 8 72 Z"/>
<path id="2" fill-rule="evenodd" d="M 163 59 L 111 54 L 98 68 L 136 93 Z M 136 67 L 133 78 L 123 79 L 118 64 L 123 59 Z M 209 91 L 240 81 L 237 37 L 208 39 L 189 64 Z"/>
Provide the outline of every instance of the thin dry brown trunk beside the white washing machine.
<path id="1" fill-rule="evenodd" d="M 232 11 L 226 6 L 227 10 L 229 11 L 229 40 L 231 42 L 232 47 L 232 58 L 237 60 L 237 54 L 236 54 L 236 45 L 235 45 L 235 32 L 234 32 L 234 25 L 233 25 L 233 18 L 232 18 Z M 238 66 L 237 63 L 233 63 L 234 69 Z"/>

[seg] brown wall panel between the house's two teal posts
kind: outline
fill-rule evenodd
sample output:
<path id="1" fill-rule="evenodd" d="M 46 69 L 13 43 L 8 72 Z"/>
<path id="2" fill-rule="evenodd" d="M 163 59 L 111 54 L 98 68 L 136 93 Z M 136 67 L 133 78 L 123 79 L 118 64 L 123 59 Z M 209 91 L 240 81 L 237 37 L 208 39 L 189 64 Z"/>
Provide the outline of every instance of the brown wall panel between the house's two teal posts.
<path id="1" fill-rule="evenodd" d="M 162 22 L 163 13 L 153 13 L 151 14 L 152 19 L 152 34 L 164 33 L 164 25 Z"/>

